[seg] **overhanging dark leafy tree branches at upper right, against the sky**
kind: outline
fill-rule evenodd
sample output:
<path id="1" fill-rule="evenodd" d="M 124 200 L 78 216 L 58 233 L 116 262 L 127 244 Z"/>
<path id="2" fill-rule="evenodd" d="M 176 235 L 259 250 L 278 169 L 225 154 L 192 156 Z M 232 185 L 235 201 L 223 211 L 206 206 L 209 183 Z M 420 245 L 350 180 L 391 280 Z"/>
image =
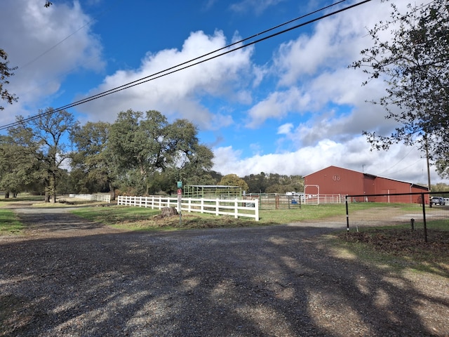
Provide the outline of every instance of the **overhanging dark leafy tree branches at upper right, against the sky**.
<path id="1" fill-rule="evenodd" d="M 373 103 L 382 105 L 386 118 L 399 126 L 389 136 L 363 133 L 378 150 L 393 143 L 420 144 L 439 161 L 443 174 L 449 153 L 449 1 L 409 6 L 405 14 L 391 6 L 391 21 L 369 31 L 373 46 L 361 51 L 361 60 L 351 67 L 368 74 L 365 84 L 385 81 L 387 94 Z M 384 40 L 384 32 L 392 32 L 391 41 Z"/>

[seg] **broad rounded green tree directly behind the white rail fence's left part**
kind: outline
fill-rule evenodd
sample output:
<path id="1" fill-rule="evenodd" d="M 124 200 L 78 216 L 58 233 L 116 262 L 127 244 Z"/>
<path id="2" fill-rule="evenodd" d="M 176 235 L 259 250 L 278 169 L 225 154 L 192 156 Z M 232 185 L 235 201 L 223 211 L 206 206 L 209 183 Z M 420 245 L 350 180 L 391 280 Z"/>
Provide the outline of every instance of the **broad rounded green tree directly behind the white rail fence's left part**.
<path id="1" fill-rule="evenodd" d="M 109 130 L 106 156 L 121 182 L 135 194 L 173 193 L 176 181 L 210 181 L 213 152 L 199 143 L 185 119 L 173 124 L 155 110 L 120 112 Z"/>

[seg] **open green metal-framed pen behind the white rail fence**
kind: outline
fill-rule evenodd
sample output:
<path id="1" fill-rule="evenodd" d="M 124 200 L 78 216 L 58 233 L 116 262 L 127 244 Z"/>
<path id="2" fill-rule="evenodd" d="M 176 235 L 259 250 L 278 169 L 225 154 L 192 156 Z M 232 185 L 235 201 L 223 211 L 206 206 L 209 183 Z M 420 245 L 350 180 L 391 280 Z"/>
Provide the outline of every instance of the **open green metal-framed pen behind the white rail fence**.
<path id="1" fill-rule="evenodd" d="M 185 185 L 182 197 L 206 199 L 236 199 L 241 197 L 241 187 L 227 185 Z"/>

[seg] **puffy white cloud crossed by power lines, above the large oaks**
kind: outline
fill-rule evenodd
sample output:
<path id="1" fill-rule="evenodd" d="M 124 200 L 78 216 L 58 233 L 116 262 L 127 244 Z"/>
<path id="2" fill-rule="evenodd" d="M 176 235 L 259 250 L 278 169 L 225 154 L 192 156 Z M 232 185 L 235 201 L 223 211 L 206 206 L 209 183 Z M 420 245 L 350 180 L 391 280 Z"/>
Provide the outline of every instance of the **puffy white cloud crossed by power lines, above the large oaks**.
<path id="1" fill-rule="evenodd" d="M 226 39 L 220 31 L 216 31 L 213 36 L 201 31 L 192 32 L 181 50 L 173 48 L 148 53 L 138 70 L 118 71 L 106 77 L 103 83 L 88 95 L 156 74 L 224 46 Z M 168 116 L 187 118 L 201 128 L 229 126 L 233 123 L 229 114 L 208 110 L 201 103 L 201 99 L 213 97 L 227 98 L 234 100 L 234 103 L 250 102 L 250 92 L 245 90 L 245 78 L 250 77 L 251 53 L 252 48 L 243 48 L 156 81 L 149 81 L 101 100 L 86 103 L 81 109 L 86 114 L 91 114 L 91 119 L 98 120 L 114 121 L 119 111 L 132 107 L 133 110 L 155 109 Z M 242 88 L 243 90 L 240 90 Z"/>

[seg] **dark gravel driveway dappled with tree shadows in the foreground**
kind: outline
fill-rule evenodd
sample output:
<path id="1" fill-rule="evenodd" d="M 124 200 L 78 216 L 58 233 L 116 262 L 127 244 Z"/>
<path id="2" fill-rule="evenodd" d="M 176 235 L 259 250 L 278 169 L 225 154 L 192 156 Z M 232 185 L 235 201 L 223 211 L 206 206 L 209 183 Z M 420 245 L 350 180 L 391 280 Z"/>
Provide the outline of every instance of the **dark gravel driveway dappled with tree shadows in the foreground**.
<path id="1" fill-rule="evenodd" d="M 0 336 L 449 336 L 447 274 L 364 265 L 329 243 L 340 225 L 129 233 L 15 211 Z"/>

